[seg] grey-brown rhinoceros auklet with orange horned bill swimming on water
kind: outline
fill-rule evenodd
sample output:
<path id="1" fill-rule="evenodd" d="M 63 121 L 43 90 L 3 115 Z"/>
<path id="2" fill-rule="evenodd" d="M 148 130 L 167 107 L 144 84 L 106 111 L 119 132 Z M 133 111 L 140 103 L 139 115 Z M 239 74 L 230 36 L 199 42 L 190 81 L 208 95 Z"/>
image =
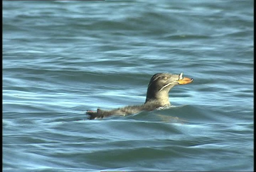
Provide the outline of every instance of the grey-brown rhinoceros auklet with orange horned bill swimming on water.
<path id="1" fill-rule="evenodd" d="M 152 76 L 148 84 L 146 102 L 137 106 L 126 106 L 113 110 L 87 111 L 89 119 L 103 118 L 110 115 L 129 115 L 140 111 L 152 111 L 156 108 L 170 106 L 169 91 L 176 85 L 189 84 L 193 81 L 191 78 L 183 77 L 181 74 L 157 73 Z"/>

